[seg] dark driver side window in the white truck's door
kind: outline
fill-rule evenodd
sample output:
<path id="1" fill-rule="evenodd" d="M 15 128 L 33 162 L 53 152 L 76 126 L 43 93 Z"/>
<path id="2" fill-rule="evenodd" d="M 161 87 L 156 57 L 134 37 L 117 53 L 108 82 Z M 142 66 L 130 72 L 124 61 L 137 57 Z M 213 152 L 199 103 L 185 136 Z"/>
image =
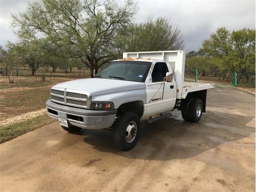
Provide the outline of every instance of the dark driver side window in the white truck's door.
<path id="1" fill-rule="evenodd" d="M 152 83 L 163 82 L 166 73 L 169 72 L 166 63 L 156 63 L 152 71 Z"/>

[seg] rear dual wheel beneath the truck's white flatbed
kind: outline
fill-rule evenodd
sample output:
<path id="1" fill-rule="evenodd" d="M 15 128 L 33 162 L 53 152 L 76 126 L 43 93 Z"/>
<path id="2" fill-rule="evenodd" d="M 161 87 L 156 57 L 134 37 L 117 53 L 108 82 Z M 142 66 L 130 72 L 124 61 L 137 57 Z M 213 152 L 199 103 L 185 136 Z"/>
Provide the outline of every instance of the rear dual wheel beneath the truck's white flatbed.
<path id="1" fill-rule="evenodd" d="M 202 117 L 203 103 L 201 99 L 194 98 L 182 103 L 182 118 L 185 121 L 198 122 Z"/>

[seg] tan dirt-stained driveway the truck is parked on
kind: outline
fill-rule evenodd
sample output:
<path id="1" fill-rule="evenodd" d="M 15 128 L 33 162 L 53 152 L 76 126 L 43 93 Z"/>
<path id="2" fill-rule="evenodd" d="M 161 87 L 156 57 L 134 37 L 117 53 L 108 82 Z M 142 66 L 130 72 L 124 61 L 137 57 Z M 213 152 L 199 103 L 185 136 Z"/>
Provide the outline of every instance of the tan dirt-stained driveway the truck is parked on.
<path id="1" fill-rule="evenodd" d="M 57 122 L 0 144 L 0 191 L 255 191 L 255 95 L 216 86 L 198 123 L 151 124 L 128 152 L 110 130 Z"/>

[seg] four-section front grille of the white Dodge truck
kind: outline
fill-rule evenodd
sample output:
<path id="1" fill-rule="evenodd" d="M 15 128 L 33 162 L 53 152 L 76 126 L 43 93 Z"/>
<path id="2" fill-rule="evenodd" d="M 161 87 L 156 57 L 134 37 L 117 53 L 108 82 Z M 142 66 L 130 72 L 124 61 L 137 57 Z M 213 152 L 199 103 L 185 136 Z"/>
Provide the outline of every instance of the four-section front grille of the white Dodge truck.
<path id="1" fill-rule="evenodd" d="M 68 106 L 76 106 L 80 108 L 90 108 L 90 93 L 81 91 L 71 92 L 65 90 L 51 90 L 51 99 L 54 102 L 60 102 Z"/>

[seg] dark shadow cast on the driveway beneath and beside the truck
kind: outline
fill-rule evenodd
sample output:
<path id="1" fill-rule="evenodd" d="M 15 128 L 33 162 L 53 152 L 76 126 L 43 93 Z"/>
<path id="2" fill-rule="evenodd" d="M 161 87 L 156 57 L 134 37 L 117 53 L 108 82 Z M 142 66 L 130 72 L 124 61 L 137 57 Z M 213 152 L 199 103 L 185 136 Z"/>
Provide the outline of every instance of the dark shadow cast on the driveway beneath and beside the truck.
<path id="1" fill-rule="evenodd" d="M 141 160 L 172 160 L 196 156 L 226 142 L 255 134 L 255 127 L 246 126 L 253 117 L 222 112 L 207 112 L 198 123 L 185 122 L 180 112 L 151 124 L 142 122 L 140 139 L 129 151 L 117 149 L 111 130 L 81 130 L 84 142 L 100 152 L 111 152 Z"/>

